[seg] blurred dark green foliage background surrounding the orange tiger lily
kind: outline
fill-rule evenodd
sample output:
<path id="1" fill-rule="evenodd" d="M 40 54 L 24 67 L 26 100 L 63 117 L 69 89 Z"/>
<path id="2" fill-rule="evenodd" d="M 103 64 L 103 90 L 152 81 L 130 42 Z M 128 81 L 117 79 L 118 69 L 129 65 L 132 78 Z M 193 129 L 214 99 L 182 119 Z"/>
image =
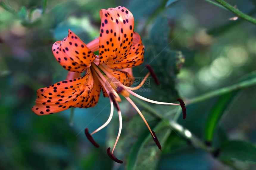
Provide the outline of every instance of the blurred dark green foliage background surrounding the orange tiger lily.
<path id="1" fill-rule="evenodd" d="M 228 2 L 255 16 L 254 0 Z M 248 85 L 254 85 L 256 78 L 252 23 L 229 20 L 235 15 L 209 0 L 4 0 L 0 4 L 0 169 L 256 169 L 256 88 Z M 132 12 L 135 31 L 145 46 L 144 63 L 133 69 L 134 76 L 145 76 L 146 69 L 141 70 L 150 63 L 161 83 L 152 82 L 147 87 L 150 92 L 139 94 L 163 102 L 180 97 L 187 106 L 183 120 L 177 106 L 134 100 L 156 132 L 161 152 L 141 117 L 123 99 L 123 129 L 114 152 L 123 164 L 106 153 L 118 133 L 116 112 L 111 123 L 93 135 L 99 149 L 83 132 L 85 127 L 94 131 L 107 120 L 108 98 L 101 95 L 94 108 L 75 108 L 73 126 L 71 110 L 47 116 L 31 111 L 36 90 L 67 75 L 51 52 L 52 44 L 65 38 L 68 29 L 90 42 L 99 36 L 99 10 L 117 6 Z M 239 82 L 246 86 L 219 91 Z M 219 95 L 202 97 L 214 90 Z"/>

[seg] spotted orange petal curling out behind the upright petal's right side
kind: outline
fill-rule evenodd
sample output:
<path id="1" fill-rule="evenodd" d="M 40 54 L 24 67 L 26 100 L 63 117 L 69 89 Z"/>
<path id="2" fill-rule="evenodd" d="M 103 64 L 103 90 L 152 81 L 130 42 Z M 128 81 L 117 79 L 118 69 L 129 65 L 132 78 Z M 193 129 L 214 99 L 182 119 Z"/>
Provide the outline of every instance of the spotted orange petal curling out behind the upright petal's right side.
<path id="1" fill-rule="evenodd" d="M 127 57 L 125 57 L 124 60 L 120 62 L 115 61 L 114 59 L 107 60 L 105 65 L 107 65 L 108 68 L 112 68 L 112 69 L 130 68 L 130 67 L 141 65 L 143 63 L 144 47 L 141 41 L 141 37 L 138 33 L 134 32 L 133 38 L 134 39 L 132 41 L 132 47 Z"/>

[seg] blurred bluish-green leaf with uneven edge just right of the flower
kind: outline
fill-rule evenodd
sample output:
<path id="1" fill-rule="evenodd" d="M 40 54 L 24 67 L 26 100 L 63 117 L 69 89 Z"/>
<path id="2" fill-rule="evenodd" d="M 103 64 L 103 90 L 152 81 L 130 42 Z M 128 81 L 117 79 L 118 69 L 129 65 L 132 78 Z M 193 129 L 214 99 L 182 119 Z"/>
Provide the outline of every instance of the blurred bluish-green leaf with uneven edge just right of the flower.
<path id="1" fill-rule="evenodd" d="M 149 37 L 143 42 L 145 44 L 144 63 L 150 64 L 154 69 L 160 87 L 154 82 L 151 88 L 159 100 L 176 100 L 178 93 L 175 89 L 175 78 L 184 63 L 184 56 L 181 52 L 171 50 L 170 38 L 171 26 L 166 17 L 157 17 Z M 164 90 L 161 90 L 164 89 Z"/>

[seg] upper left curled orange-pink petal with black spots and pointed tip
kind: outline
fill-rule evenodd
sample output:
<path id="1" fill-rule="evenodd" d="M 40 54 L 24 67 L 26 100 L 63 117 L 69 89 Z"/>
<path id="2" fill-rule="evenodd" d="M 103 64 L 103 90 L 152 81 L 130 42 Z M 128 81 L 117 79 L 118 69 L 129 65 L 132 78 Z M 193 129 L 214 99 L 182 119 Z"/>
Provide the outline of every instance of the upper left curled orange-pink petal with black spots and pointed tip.
<path id="1" fill-rule="evenodd" d="M 82 73 L 96 59 L 96 55 L 70 30 L 65 39 L 53 44 L 52 52 L 60 65 L 77 73 Z"/>

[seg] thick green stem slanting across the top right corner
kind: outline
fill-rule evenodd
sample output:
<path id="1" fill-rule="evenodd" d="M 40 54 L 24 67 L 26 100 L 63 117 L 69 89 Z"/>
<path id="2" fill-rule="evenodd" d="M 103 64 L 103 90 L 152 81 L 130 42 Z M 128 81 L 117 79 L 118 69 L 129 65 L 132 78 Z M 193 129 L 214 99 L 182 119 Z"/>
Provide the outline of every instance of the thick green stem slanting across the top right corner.
<path id="1" fill-rule="evenodd" d="M 254 18 L 250 17 L 249 15 L 244 14 L 243 12 L 239 11 L 238 9 L 236 9 L 232 5 L 228 4 L 227 2 L 225 2 L 223 0 L 215 0 L 215 1 L 218 2 L 219 4 L 221 4 L 226 9 L 233 12 L 237 17 L 243 18 L 244 20 L 256 25 L 256 20 Z"/>

